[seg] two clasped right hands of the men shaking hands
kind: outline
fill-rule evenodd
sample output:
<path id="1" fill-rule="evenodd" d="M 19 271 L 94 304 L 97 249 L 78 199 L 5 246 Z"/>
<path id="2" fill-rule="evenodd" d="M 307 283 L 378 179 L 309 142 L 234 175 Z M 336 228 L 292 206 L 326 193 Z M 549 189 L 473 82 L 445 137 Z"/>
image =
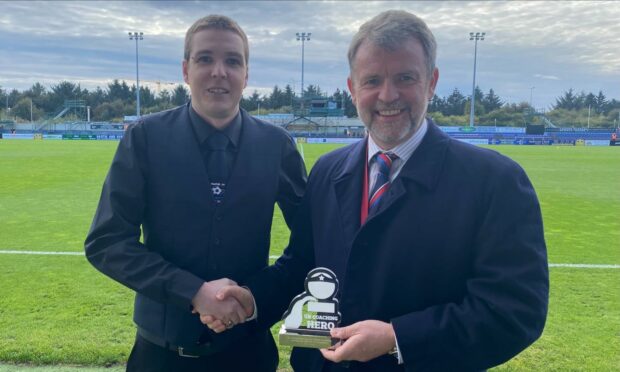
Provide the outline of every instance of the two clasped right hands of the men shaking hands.
<path id="1" fill-rule="evenodd" d="M 192 305 L 192 313 L 216 333 L 245 322 L 255 311 L 252 293 L 227 278 L 203 283 Z"/>

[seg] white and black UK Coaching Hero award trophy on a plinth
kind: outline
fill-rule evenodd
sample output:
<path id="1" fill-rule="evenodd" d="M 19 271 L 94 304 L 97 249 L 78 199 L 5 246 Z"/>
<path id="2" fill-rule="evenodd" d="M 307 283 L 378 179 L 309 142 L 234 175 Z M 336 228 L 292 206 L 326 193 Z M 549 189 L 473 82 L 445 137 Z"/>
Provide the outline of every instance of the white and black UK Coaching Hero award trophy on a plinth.
<path id="1" fill-rule="evenodd" d="M 297 295 L 284 313 L 280 345 L 328 348 L 336 342 L 329 331 L 340 324 L 338 279 L 333 271 L 317 267 L 304 282 L 305 292 Z"/>

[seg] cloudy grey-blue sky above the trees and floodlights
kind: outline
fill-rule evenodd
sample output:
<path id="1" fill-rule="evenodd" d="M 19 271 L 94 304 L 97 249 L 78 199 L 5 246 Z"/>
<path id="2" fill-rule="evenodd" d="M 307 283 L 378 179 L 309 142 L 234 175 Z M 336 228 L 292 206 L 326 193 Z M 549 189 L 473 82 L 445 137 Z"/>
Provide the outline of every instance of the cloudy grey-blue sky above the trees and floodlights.
<path id="1" fill-rule="evenodd" d="M 135 82 L 135 42 L 142 31 L 140 80 L 153 89 L 183 82 L 187 28 L 212 13 L 235 19 L 250 39 L 245 94 L 274 85 L 304 85 L 332 93 L 346 87 L 346 51 L 352 35 L 372 16 L 404 9 L 424 19 L 437 39 L 437 94 L 458 88 L 471 94 L 474 42 L 477 85 L 508 102 L 549 109 L 569 88 L 620 99 L 620 2 L 609 1 L 1 1 L 0 87 L 49 87 L 62 80 L 105 88 L 113 79 Z M 157 84 L 159 82 L 159 84 Z M 532 87 L 534 87 L 532 89 Z"/>

